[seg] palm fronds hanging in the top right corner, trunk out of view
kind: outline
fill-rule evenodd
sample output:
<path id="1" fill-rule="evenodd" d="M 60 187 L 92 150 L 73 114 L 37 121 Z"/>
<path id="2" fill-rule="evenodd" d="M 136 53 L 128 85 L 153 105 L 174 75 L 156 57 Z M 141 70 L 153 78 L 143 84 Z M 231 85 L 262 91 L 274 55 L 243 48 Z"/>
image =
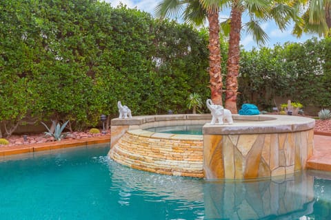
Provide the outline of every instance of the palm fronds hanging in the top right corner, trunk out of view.
<path id="1" fill-rule="evenodd" d="M 294 5 L 301 17 L 294 25 L 293 34 L 298 37 L 303 32 L 330 36 L 331 0 L 297 0 Z"/>

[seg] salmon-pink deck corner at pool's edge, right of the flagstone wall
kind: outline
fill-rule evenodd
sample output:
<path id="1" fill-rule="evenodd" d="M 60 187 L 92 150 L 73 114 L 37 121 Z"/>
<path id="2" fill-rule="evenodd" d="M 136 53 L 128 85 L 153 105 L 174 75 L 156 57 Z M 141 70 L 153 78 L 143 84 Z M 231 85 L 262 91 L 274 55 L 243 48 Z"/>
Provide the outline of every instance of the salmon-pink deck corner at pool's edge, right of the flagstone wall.
<path id="1" fill-rule="evenodd" d="M 307 167 L 331 171 L 331 135 L 314 135 L 314 153 L 308 159 Z"/>

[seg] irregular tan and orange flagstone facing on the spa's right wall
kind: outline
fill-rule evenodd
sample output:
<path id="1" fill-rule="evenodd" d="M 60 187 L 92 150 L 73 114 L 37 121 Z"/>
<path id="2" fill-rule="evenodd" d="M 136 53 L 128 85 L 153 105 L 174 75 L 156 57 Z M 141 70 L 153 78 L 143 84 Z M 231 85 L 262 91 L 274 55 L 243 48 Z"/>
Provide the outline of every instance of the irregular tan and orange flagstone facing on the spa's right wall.
<path id="1" fill-rule="evenodd" d="M 250 179 L 305 169 L 312 155 L 313 129 L 294 133 L 204 135 L 207 179 Z"/>

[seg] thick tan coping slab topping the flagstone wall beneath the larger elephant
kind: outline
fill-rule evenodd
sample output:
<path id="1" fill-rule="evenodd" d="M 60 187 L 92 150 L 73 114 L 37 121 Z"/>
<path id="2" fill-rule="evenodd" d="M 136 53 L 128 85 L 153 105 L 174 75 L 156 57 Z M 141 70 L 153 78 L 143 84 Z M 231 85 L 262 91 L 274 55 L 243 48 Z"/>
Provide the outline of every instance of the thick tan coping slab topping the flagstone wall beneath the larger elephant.
<path id="1" fill-rule="evenodd" d="M 233 124 L 203 126 L 204 135 L 288 133 L 314 129 L 315 120 L 292 115 L 233 115 Z M 239 122 L 236 122 L 238 120 Z"/>

